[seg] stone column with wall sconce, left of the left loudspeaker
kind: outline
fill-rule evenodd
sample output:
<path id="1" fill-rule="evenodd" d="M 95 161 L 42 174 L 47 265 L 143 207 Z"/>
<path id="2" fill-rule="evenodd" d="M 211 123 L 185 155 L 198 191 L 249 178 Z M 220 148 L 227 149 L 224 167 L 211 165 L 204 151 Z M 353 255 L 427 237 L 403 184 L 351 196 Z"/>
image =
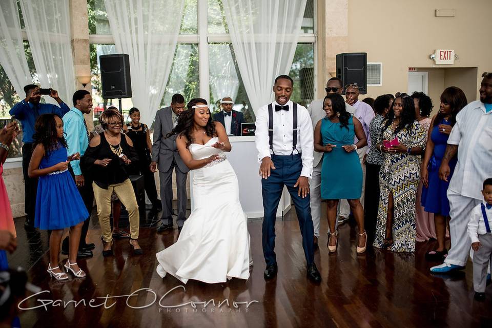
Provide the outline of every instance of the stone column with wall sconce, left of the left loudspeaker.
<path id="1" fill-rule="evenodd" d="M 87 0 L 70 0 L 70 25 L 72 30 L 72 53 L 75 66 L 75 77 L 91 76 L 91 62 L 89 53 L 89 17 Z M 77 90 L 86 89 L 91 92 L 91 83 L 84 87 L 78 80 Z M 72 99 L 68 99 L 72 105 Z M 89 132 L 94 128 L 93 113 L 85 114 Z"/>

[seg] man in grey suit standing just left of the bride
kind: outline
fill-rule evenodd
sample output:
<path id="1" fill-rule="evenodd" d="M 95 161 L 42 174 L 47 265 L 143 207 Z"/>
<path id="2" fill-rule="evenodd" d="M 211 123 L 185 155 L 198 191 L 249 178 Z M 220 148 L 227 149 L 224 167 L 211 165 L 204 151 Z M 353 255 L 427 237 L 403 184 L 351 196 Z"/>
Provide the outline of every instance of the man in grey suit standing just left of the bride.
<path id="1" fill-rule="evenodd" d="M 162 202 L 161 224 L 157 232 L 173 229 L 173 170 L 176 170 L 176 188 L 178 191 L 178 230 L 181 231 L 186 220 L 186 179 L 188 167 L 183 163 L 176 148 L 176 136 L 166 135 L 176 127 L 179 114 L 185 110 L 185 98 L 180 94 L 173 95 L 171 106 L 161 108 L 155 114 L 154 145 L 152 145 L 152 162 L 150 170 L 159 169 L 160 200 Z"/>

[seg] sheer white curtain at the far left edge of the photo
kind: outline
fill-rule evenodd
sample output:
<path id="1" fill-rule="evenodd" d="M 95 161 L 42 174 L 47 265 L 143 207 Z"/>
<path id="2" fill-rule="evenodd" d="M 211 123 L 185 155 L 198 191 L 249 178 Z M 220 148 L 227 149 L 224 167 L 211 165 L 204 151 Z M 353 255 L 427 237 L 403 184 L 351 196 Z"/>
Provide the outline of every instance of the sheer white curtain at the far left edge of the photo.
<path id="1" fill-rule="evenodd" d="M 16 0 L 0 2 L 0 63 L 9 77 L 10 83 L 19 95 L 25 98 L 24 86 L 31 84 L 31 74 L 27 66 L 26 53 Z"/>

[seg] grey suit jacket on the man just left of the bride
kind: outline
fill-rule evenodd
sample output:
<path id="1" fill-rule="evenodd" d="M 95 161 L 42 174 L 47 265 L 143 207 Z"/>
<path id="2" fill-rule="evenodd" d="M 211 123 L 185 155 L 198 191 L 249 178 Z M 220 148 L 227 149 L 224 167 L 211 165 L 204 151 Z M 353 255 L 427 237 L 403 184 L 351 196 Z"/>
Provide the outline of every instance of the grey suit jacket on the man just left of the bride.
<path id="1" fill-rule="evenodd" d="M 166 134 L 173 130 L 173 116 L 171 107 L 159 109 L 155 114 L 154 123 L 154 145 L 152 145 L 152 161 L 158 163 L 160 172 L 167 172 L 171 168 L 173 159 L 179 171 L 187 173 L 190 171 L 179 156 L 176 147 L 176 136 L 166 139 Z"/>

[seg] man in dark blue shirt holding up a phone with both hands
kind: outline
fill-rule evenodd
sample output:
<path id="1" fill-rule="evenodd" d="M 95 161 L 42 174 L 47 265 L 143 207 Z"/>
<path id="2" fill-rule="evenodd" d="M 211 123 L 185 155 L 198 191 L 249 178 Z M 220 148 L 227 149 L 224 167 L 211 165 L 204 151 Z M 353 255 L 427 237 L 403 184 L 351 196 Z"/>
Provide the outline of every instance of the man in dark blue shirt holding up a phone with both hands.
<path id="1" fill-rule="evenodd" d="M 33 134 L 34 124 L 36 119 L 41 114 L 53 113 L 59 117 L 63 117 L 70 108 L 58 97 L 58 92 L 51 89 L 50 96 L 56 100 L 59 107 L 53 104 L 41 104 L 41 94 L 39 93 L 39 87 L 33 84 L 24 87 L 26 92 L 26 98 L 20 103 L 17 103 L 9 111 L 10 115 L 15 115 L 15 118 L 20 120 L 22 125 L 22 172 L 24 175 L 24 208 L 26 212 L 26 221 L 24 227 L 27 229 L 34 228 L 34 211 L 36 206 L 36 191 L 37 191 L 37 178 L 30 178 L 27 174 L 29 168 L 29 162 L 31 161 L 33 151 Z"/>

